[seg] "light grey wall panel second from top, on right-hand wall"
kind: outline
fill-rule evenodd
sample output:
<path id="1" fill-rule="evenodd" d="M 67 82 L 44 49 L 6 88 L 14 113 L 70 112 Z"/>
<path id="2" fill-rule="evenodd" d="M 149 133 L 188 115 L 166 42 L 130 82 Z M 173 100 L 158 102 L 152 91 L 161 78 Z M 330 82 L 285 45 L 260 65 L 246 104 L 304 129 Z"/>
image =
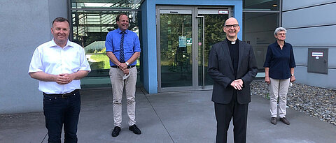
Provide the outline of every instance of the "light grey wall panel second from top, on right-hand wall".
<path id="1" fill-rule="evenodd" d="M 282 13 L 285 28 L 336 24 L 336 3 Z"/>

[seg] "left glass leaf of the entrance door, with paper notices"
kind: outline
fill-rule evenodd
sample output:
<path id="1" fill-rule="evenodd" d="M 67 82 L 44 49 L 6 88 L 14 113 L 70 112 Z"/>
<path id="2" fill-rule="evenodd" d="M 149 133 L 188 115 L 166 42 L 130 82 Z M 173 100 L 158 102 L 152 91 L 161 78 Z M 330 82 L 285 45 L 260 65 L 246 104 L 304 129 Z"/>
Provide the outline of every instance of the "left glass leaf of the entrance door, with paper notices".
<path id="1" fill-rule="evenodd" d="M 158 24 L 159 89 L 183 91 L 193 89 L 192 10 L 160 9 Z"/>

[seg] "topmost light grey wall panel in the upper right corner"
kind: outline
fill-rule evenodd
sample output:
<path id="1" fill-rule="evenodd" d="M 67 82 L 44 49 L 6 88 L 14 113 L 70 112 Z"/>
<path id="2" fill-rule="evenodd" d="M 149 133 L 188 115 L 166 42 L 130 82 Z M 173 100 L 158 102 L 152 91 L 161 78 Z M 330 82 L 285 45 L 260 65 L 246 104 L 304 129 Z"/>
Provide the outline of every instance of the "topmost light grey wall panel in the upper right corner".
<path id="1" fill-rule="evenodd" d="M 335 0 L 283 0 L 282 10 L 291 10 L 307 6 L 316 6 L 322 3 L 336 2 Z"/>

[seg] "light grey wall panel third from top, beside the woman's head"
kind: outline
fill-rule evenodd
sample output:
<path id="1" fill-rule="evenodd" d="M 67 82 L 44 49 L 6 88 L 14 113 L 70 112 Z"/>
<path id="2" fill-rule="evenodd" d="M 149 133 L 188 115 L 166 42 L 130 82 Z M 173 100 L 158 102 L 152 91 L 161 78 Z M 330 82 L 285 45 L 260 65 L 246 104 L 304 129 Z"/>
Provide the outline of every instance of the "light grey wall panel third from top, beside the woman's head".
<path id="1" fill-rule="evenodd" d="M 288 29 L 286 42 L 296 46 L 336 46 L 336 26 Z"/>

